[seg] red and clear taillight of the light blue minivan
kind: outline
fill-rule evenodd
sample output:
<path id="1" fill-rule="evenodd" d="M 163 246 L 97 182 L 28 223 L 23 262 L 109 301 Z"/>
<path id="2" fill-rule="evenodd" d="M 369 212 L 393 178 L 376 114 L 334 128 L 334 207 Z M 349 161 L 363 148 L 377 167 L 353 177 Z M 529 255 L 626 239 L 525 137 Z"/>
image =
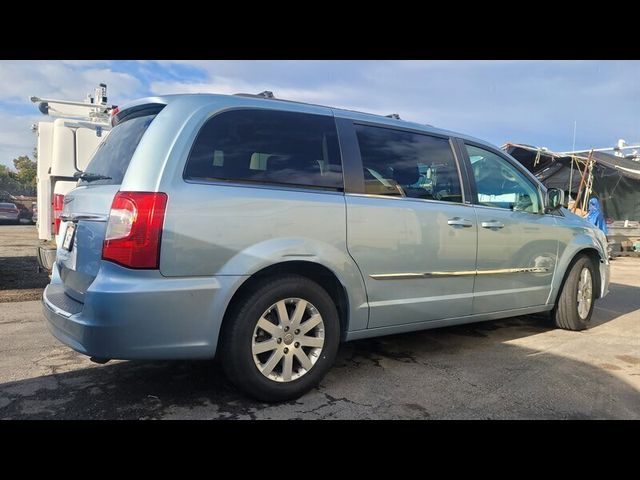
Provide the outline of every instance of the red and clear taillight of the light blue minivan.
<path id="1" fill-rule="evenodd" d="M 102 259 L 129 268 L 158 268 L 166 206 L 166 193 L 118 192 L 109 212 Z"/>

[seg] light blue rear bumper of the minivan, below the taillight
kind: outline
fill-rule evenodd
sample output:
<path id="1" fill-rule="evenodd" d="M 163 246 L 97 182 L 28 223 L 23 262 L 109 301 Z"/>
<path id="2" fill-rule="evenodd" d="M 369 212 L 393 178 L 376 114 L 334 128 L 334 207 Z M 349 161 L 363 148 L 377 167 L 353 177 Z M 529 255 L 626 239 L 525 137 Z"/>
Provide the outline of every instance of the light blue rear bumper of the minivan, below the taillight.
<path id="1" fill-rule="evenodd" d="M 107 359 L 212 358 L 226 303 L 239 277 L 162 277 L 108 262 L 84 303 L 59 276 L 43 294 L 51 333 L 85 355 Z"/>

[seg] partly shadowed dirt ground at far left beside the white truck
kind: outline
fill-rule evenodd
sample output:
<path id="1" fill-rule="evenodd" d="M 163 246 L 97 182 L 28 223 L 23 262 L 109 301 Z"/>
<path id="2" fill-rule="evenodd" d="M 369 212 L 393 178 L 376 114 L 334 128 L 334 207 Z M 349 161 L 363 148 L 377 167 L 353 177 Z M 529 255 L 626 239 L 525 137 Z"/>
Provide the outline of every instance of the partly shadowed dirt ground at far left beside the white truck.
<path id="1" fill-rule="evenodd" d="M 35 225 L 0 224 L 0 303 L 38 300 L 49 283 L 38 272 Z"/>

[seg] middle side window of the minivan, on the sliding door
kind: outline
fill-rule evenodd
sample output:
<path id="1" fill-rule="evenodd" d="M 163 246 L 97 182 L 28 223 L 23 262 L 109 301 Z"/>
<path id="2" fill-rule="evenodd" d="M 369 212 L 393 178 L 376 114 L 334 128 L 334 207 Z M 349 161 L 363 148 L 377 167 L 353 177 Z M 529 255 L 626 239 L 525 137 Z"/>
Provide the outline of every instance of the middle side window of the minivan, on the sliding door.
<path id="1" fill-rule="evenodd" d="M 449 141 L 418 133 L 354 125 L 365 193 L 462 202 Z"/>

